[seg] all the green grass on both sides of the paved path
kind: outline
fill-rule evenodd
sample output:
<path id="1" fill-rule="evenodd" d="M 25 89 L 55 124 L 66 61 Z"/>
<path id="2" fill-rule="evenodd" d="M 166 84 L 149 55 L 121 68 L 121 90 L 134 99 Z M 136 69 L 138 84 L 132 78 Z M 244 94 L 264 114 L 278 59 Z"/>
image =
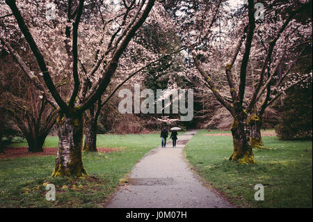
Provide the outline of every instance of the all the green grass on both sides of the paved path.
<path id="1" fill-rule="evenodd" d="M 257 164 L 228 161 L 231 136 L 200 130 L 186 145 L 195 171 L 241 207 L 312 207 L 312 141 L 279 141 L 264 136 L 269 150 L 254 150 Z M 226 132 L 227 133 L 227 132 Z M 83 153 L 85 179 L 51 178 L 54 156 L 0 159 L 0 207 L 101 207 L 136 162 L 159 145 L 159 134 L 98 135 L 97 147 L 124 150 Z M 24 141 L 13 146 L 26 146 Z M 45 147 L 56 147 L 49 136 Z M 56 201 L 45 199 L 45 184 L 56 185 Z M 254 200 L 255 184 L 264 185 L 264 201 Z"/>

